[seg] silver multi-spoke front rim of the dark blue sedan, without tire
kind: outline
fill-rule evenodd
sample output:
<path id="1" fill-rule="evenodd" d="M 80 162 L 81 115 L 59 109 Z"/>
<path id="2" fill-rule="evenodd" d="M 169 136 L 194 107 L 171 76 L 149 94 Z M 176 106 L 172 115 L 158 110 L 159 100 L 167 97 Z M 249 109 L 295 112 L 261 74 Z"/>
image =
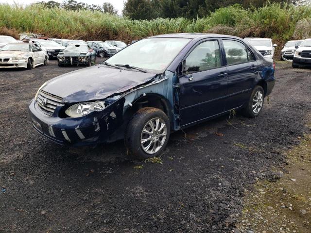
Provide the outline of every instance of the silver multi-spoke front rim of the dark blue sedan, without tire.
<path id="1" fill-rule="evenodd" d="M 167 127 L 163 119 L 156 117 L 147 122 L 144 126 L 140 145 L 147 154 L 154 154 L 159 151 L 166 139 Z"/>

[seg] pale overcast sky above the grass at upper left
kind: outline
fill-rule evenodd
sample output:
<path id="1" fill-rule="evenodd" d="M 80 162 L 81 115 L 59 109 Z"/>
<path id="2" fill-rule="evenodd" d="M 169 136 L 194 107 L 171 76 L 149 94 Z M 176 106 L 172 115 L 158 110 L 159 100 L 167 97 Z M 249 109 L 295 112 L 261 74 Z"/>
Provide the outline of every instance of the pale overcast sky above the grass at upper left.
<path id="1" fill-rule="evenodd" d="M 9 4 L 14 4 L 14 2 L 19 3 L 19 4 L 31 4 L 37 1 L 41 0 L 0 0 L 0 3 L 9 3 Z M 49 0 L 44 0 L 44 1 L 49 1 Z M 54 0 L 57 2 L 63 2 L 63 0 Z M 103 5 L 104 2 L 110 2 L 111 4 L 114 5 L 115 8 L 118 9 L 119 15 L 122 13 L 123 9 L 123 0 L 76 0 L 77 2 L 85 2 L 89 5 L 94 4 L 94 5 Z"/>

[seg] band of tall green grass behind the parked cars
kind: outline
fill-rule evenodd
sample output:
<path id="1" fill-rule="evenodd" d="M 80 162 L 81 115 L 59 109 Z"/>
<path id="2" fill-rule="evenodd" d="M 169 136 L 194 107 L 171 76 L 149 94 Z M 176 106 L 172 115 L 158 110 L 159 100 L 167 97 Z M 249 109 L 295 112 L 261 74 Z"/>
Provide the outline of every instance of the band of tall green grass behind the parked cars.
<path id="1" fill-rule="evenodd" d="M 285 41 L 299 36 L 311 36 L 305 33 L 303 27 L 297 28 L 303 20 L 310 22 L 310 7 L 294 7 L 278 3 L 252 9 L 233 5 L 220 8 L 207 17 L 195 20 L 185 18 L 130 20 L 86 10 L 66 11 L 44 8 L 42 5 L 22 7 L 0 4 L 0 33 L 2 28 L 2 33 L 5 29 L 5 32 L 14 30 L 14 32 L 33 32 L 50 37 L 85 40 L 131 41 L 164 33 L 212 32 L 240 37 L 272 37 L 278 41 Z"/>

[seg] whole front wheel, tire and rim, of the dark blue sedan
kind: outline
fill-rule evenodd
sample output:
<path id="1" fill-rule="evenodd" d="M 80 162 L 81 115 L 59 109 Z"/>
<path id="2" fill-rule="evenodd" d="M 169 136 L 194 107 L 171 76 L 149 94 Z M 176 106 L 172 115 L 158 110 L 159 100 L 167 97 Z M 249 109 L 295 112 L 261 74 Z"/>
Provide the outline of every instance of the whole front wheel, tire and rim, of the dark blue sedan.
<path id="1" fill-rule="evenodd" d="M 159 131 L 152 130 L 150 122 L 154 128 L 158 126 Z M 161 127 L 163 128 L 161 129 Z M 143 130 L 149 133 L 143 133 Z M 168 143 L 170 133 L 170 120 L 162 110 L 151 107 L 141 108 L 127 125 L 124 135 L 125 147 L 128 154 L 134 159 L 159 156 Z M 150 139 L 141 144 L 141 140 L 148 138 Z"/>

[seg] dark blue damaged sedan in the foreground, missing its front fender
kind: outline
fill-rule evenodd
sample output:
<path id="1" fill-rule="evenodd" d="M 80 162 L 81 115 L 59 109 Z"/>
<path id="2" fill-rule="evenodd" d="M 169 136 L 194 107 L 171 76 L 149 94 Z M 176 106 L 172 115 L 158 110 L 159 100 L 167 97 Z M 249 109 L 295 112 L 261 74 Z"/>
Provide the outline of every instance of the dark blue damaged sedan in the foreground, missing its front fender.
<path id="1" fill-rule="evenodd" d="M 238 37 L 158 35 L 44 83 L 28 108 L 35 130 L 55 143 L 124 139 L 129 154 L 146 159 L 165 149 L 173 131 L 232 109 L 258 116 L 274 71 L 272 59 Z"/>

